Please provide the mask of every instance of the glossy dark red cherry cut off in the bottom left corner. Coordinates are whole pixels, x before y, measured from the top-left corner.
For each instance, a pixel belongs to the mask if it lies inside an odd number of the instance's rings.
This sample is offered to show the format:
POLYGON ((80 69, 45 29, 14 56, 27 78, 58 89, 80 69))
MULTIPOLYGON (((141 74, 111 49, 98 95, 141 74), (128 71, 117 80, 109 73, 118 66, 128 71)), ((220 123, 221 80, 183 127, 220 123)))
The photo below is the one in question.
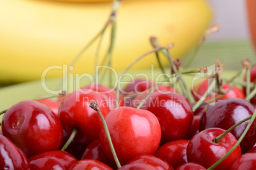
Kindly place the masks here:
POLYGON ((3 135, 0 135, 0 169, 30 169, 24 152, 3 135))

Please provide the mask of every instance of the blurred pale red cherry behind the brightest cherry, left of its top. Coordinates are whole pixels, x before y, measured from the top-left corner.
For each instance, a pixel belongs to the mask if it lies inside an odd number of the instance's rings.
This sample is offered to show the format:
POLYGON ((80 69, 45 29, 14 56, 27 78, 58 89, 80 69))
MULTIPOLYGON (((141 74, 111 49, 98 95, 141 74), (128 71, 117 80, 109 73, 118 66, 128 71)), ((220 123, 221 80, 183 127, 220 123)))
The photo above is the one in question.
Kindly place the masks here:
MULTIPOLYGON (((115 108, 117 96, 115 89, 111 89, 108 86, 104 86, 102 84, 88 84, 87 86, 83 86, 82 89, 93 89, 97 93, 100 93, 108 102, 108 107, 110 107, 110 110, 115 108)), ((121 95, 119 96, 118 105, 119 107, 124 106, 124 98, 122 98, 121 95)))

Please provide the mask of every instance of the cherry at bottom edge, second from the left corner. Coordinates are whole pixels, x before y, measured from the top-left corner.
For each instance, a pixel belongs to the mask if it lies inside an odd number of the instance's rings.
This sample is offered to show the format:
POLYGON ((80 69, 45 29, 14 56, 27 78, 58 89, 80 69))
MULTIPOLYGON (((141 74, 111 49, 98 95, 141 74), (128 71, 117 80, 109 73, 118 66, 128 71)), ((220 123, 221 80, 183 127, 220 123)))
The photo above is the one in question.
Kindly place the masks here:
POLYGON ((68 152, 53 150, 29 158, 31 169, 69 169, 78 160, 68 152))

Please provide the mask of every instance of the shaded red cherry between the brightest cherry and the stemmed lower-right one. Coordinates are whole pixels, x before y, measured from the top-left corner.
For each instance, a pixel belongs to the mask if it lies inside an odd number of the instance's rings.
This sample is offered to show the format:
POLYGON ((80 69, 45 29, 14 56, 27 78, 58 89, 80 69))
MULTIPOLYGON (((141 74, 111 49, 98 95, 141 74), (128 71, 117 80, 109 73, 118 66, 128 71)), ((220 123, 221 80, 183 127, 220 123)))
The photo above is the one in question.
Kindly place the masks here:
POLYGON ((171 167, 176 169, 187 162, 187 145, 188 140, 169 141, 159 147, 155 156, 166 160, 171 167))

